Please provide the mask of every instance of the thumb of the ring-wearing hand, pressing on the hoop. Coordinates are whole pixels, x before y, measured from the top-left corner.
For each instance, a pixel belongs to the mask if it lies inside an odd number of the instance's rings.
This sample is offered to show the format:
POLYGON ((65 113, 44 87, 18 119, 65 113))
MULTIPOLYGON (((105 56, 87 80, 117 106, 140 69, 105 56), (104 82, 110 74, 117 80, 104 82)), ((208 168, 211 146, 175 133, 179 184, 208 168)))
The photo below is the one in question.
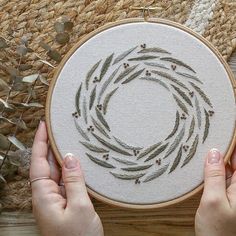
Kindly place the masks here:
POLYGON ((71 153, 67 153, 63 161, 62 179, 65 184, 68 207, 78 208, 81 205, 91 204, 79 160, 71 153))

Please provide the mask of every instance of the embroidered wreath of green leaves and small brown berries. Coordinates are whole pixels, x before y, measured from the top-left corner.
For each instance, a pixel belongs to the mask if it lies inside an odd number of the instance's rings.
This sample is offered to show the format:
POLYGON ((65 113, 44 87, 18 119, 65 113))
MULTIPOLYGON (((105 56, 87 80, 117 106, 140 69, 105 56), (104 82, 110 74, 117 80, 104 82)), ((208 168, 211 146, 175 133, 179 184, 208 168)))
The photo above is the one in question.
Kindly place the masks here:
POLYGON ((203 82, 196 74, 170 52, 147 47, 145 43, 96 62, 78 88, 76 111, 72 113, 80 143, 87 149, 86 156, 110 169, 113 177, 134 180, 135 184, 152 181, 187 165, 199 143, 207 139, 210 118, 214 115, 203 82), (134 147, 113 136, 106 121, 112 96, 119 87, 136 79, 162 86, 176 103, 172 131, 164 140, 148 147, 134 147))

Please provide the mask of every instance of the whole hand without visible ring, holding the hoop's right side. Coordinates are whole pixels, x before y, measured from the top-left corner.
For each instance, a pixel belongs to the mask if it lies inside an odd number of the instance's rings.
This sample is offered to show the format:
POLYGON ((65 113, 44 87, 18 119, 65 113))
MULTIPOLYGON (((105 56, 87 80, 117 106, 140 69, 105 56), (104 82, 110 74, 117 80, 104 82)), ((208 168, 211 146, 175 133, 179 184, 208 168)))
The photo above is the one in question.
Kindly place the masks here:
POLYGON ((195 216, 196 236, 236 235, 236 148, 231 166, 212 149, 205 162, 205 184, 195 216))

